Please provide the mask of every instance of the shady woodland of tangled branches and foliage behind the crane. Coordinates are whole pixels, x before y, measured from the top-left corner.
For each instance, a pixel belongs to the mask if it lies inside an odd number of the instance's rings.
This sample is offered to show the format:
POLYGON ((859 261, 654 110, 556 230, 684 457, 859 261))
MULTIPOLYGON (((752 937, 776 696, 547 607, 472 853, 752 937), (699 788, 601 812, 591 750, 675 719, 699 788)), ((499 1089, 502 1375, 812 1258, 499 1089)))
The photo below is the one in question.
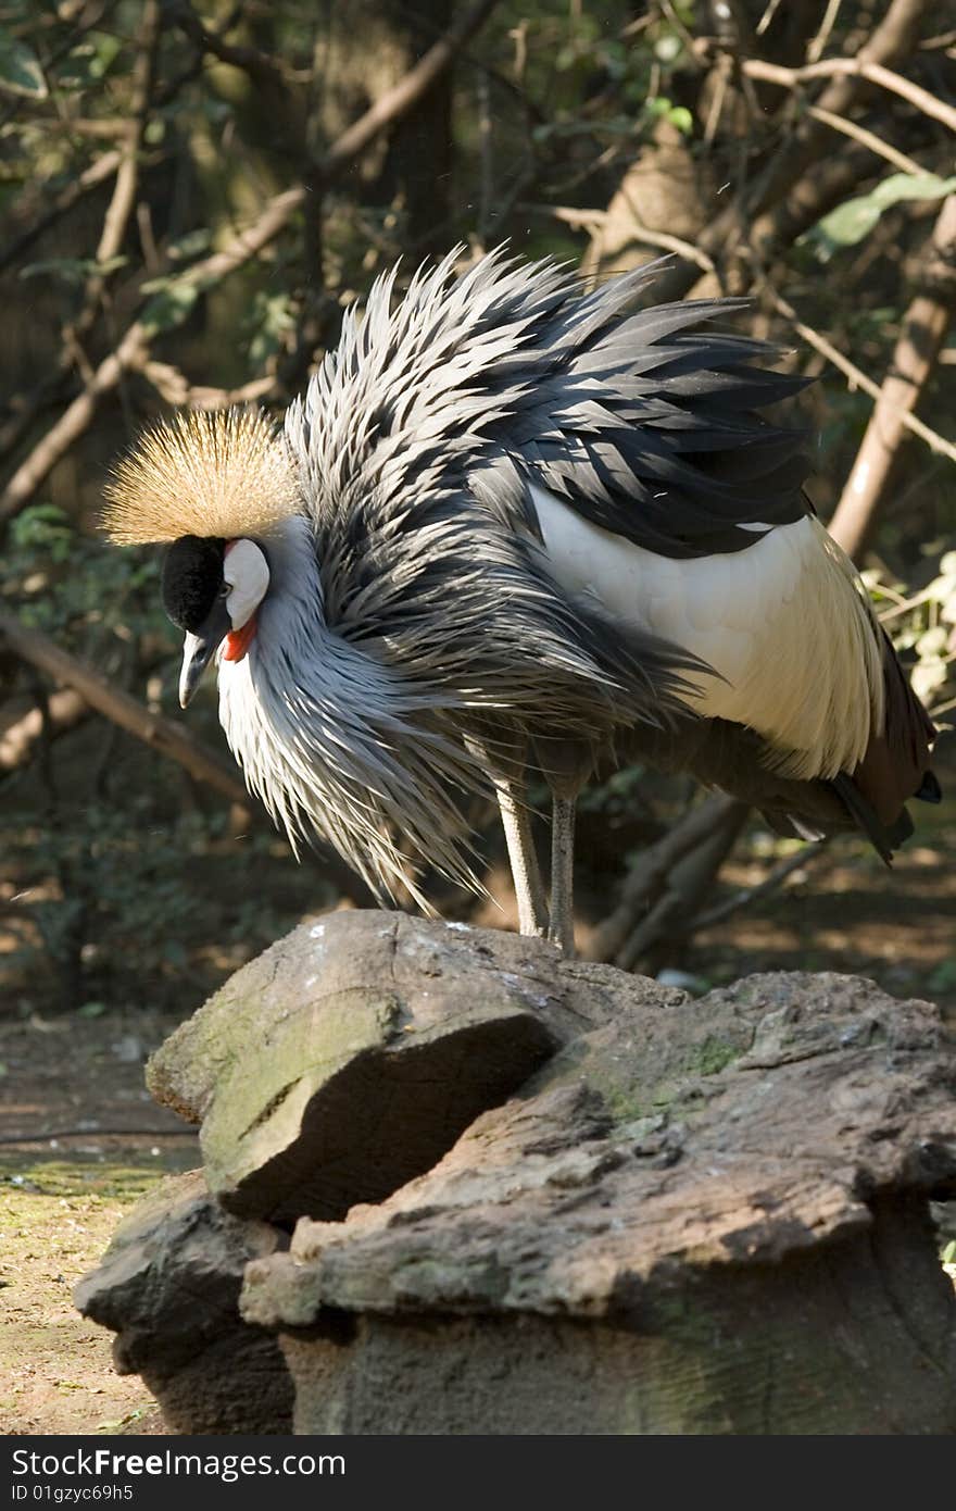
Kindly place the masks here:
MULTIPOLYGON (((281 416, 346 307, 461 243, 654 296, 748 295, 816 382, 810 491, 921 697, 956 710, 956 8, 924 0, 0 0, 0 997, 184 1015, 304 917, 365 905, 177 710, 159 553, 98 532, 174 406, 281 416)), ((956 792, 951 736, 938 769, 956 792)), ((544 795, 542 795, 544 796, 544 795)), ((578 937, 692 990, 862 970, 956 1002, 956 799, 888 873, 625 768, 589 793, 578 937), (677 973, 677 976, 675 976, 677 973)), ((513 926, 495 814, 476 808, 513 926)))

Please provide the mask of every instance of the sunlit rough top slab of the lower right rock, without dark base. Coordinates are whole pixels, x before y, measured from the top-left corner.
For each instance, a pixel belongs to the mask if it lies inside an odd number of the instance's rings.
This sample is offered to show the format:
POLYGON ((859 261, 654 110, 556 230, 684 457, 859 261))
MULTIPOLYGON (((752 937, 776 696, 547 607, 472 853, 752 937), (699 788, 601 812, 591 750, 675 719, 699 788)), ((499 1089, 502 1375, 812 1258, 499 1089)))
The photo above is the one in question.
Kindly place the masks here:
POLYGON ((296 1228, 248 1274, 257 1322, 317 1306, 604 1316, 690 1268, 778 1263, 956 1183, 956 1055, 936 1008, 847 976, 749 976, 627 1002, 426 1176, 296 1228), (607 1213, 613 1213, 612 1218, 607 1213), (287 1275, 291 1290, 257 1277, 287 1275))

